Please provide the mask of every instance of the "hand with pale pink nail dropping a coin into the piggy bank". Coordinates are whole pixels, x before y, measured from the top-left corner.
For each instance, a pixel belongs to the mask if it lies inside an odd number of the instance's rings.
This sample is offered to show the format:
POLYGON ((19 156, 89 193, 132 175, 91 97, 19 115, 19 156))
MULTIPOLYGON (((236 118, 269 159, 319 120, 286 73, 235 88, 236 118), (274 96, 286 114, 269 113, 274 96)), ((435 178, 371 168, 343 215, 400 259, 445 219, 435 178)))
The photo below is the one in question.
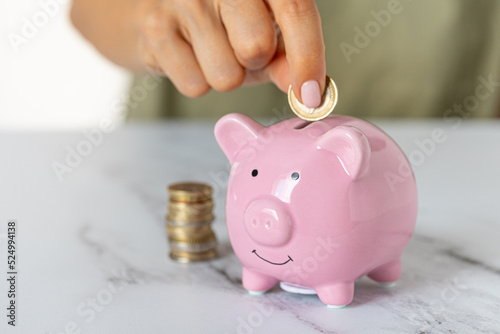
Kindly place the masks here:
POLYGON ((272 81, 316 107, 325 89, 314 0, 154 0, 139 44, 144 64, 190 97, 272 81))

